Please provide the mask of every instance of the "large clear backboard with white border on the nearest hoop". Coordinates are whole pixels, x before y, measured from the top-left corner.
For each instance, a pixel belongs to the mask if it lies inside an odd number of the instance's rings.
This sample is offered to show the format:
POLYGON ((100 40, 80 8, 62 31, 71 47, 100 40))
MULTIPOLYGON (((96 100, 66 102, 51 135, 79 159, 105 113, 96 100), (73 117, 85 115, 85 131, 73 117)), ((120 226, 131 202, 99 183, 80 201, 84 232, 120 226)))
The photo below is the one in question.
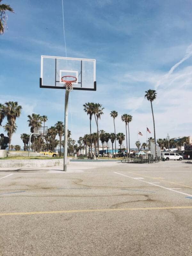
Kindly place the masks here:
POLYGON ((61 78, 75 76, 73 90, 96 91, 95 60, 41 56, 41 88, 65 89, 61 78))

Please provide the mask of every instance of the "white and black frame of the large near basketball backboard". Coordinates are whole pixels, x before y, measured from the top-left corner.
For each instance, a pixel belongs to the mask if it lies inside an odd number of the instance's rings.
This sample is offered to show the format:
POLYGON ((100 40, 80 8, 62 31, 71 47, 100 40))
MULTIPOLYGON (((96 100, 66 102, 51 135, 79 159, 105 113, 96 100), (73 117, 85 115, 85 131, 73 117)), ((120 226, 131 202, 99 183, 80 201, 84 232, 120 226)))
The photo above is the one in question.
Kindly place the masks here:
MULTIPOLYGON (((77 82, 75 84, 81 84, 81 87, 73 87, 73 90, 83 90, 83 91, 96 91, 97 90, 97 83, 96 83, 96 60, 94 59, 80 59, 80 58, 66 58, 66 57, 57 57, 57 56, 46 56, 46 55, 42 55, 41 56, 41 77, 39 79, 39 85, 40 88, 50 88, 50 89, 66 89, 65 85, 63 84, 63 86, 57 86, 56 83, 62 83, 61 81, 57 81, 56 80, 56 67, 57 67, 57 59, 63 59, 63 60, 77 60, 77 61, 92 61, 93 62, 93 88, 87 88, 87 87, 82 87, 82 83, 78 82, 78 77, 77 77, 77 82), (55 85, 44 85, 43 84, 43 60, 44 58, 52 58, 55 59, 55 85)), ((81 64, 81 68, 82 68, 82 64, 81 64)), ((68 71, 69 75, 72 71, 70 70, 60 70, 60 71, 68 71)), ((59 72, 60 72, 59 71, 59 72)), ((74 71, 77 72, 77 71, 74 71)), ((82 69, 81 69, 82 72, 82 69)), ((60 72, 60 76, 61 76, 61 72, 60 72)))

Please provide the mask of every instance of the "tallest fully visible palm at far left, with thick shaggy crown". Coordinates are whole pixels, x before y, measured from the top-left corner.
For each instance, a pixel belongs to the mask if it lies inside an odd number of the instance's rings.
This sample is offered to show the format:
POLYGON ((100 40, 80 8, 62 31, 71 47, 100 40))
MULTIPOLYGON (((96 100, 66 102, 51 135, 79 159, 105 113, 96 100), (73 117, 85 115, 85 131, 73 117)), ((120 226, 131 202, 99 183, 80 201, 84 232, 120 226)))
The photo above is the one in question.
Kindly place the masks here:
POLYGON ((17 101, 8 101, 4 104, 4 113, 7 116, 8 123, 6 125, 10 125, 9 129, 9 150, 10 150, 10 144, 12 139, 12 134, 14 132, 14 128, 17 127, 15 124, 16 118, 20 116, 21 114, 21 106, 18 106, 17 101))

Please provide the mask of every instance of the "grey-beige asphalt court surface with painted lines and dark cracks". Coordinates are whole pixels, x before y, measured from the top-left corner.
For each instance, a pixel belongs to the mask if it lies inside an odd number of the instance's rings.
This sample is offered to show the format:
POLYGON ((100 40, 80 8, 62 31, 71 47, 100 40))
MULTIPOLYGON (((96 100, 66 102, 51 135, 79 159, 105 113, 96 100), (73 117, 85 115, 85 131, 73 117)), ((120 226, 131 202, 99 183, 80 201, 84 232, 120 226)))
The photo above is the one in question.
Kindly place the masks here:
POLYGON ((192 164, 0 171, 0 255, 192 255, 192 164))

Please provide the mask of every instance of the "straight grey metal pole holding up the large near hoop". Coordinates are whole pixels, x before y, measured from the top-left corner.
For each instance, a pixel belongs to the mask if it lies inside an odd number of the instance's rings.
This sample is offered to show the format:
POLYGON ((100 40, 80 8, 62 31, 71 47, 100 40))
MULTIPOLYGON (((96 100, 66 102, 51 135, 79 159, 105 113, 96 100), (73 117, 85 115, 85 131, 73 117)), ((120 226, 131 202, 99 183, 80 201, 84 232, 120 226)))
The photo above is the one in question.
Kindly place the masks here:
POLYGON ((64 133, 64 159, 63 159, 63 171, 67 171, 67 142, 68 142, 68 99, 69 91, 65 90, 65 133, 64 133))

